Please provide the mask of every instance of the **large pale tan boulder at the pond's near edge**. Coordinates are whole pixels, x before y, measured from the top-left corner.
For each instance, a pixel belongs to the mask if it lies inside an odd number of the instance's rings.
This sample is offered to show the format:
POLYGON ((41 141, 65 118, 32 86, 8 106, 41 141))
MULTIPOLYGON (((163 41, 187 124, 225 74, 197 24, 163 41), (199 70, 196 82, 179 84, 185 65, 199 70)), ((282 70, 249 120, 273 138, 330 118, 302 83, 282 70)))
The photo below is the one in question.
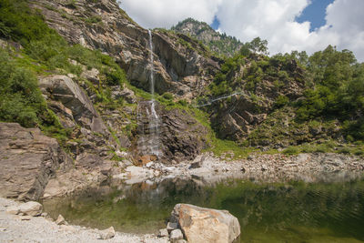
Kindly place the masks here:
POLYGON ((189 243, 231 243, 240 236, 238 218, 227 210, 177 204, 171 222, 178 224, 189 243))

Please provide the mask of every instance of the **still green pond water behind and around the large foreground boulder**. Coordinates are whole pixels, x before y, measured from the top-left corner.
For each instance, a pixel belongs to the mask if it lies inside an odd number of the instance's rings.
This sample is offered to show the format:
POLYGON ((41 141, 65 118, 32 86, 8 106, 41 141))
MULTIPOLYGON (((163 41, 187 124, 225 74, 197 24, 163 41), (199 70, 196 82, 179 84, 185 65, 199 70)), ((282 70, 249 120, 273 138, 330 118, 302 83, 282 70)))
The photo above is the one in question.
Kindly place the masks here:
POLYGON ((207 187, 175 178, 100 187, 44 205, 52 217, 62 214, 73 224, 156 233, 177 203, 227 209, 240 222, 241 242, 364 242, 364 179, 314 184, 230 180, 207 187))

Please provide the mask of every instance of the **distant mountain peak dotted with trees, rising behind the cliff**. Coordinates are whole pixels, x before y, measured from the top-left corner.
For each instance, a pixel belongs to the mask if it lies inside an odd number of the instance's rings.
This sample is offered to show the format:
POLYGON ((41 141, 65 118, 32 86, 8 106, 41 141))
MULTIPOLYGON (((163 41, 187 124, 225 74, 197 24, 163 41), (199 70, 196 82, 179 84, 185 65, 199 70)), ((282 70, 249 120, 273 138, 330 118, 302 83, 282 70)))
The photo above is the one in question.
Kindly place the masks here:
POLYGON ((220 34, 207 23, 193 18, 187 18, 171 29, 197 38, 218 56, 234 56, 243 45, 236 37, 227 36, 225 33, 220 34))

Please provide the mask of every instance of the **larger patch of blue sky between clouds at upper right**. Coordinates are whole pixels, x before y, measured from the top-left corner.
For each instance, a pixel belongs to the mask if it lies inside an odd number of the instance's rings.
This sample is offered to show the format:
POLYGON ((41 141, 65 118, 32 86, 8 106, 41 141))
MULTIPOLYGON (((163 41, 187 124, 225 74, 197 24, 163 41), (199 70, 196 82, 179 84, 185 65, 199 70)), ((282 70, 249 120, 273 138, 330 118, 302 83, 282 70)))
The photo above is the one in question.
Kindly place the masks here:
POLYGON ((314 31, 326 24, 326 8, 329 4, 332 4, 334 0, 311 0, 311 4, 303 10, 302 15, 296 18, 298 23, 305 21, 311 22, 310 31, 314 31))

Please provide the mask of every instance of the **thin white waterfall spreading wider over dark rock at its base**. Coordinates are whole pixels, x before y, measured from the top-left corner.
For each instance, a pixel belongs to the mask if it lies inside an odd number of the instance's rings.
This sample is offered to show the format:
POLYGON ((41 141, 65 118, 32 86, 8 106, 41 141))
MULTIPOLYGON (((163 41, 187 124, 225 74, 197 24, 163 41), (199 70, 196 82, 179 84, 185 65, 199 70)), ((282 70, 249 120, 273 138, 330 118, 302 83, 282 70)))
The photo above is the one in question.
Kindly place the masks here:
POLYGON ((157 115, 157 102, 154 98, 155 80, 154 80, 154 55, 153 55, 153 39, 152 32, 149 30, 149 83, 150 101, 140 102, 138 108, 138 126, 139 138, 137 142, 139 156, 162 156, 160 142, 160 118, 157 115))

